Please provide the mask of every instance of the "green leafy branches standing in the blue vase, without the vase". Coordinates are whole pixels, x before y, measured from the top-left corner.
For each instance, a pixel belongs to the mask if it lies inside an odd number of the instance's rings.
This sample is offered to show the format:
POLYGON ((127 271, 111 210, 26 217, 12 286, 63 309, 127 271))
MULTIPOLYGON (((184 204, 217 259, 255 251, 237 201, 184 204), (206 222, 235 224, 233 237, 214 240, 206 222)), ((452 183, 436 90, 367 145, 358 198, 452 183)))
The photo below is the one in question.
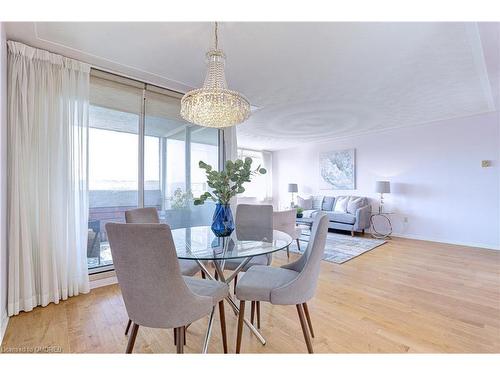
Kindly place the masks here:
POLYGON ((194 200, 196 206, 205 203, 207 199, 221 204, 229 204, 232 197, 245 191, 243 184, 250 182, 252 176, 267 173, 266 169, 261 168, 260 165, 252 170, 252 159, 248 157, 245 160, 237 159, 234 162, 228 160, 224 170, 220 172, 203 161, 200 161, 198 165, 205 170, 208 187, 213 190, 196 198, 194 200))

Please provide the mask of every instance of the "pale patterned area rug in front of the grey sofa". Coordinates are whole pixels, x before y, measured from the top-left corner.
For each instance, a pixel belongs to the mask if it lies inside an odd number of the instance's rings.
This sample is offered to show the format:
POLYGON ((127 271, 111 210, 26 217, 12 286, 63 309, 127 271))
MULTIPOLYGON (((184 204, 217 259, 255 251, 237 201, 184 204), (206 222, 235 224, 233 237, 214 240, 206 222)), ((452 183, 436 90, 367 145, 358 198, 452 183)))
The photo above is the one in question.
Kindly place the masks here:
MULTIPOLYGON (((300 248, 302 251, 305 250, 307 242, 309 242, 309 233, 308 231, 304 232, 305 233, 300 236, 300 248)), ((384 243, 386 243, 384 240, 366 237, 351 237, 350 235, 328 232, 323 260, 342 264, 384 243)), ((294 246, 290 246, 290 251, 295 253, 302 252, 298 250, 297 244, 295 243, 294 246)))

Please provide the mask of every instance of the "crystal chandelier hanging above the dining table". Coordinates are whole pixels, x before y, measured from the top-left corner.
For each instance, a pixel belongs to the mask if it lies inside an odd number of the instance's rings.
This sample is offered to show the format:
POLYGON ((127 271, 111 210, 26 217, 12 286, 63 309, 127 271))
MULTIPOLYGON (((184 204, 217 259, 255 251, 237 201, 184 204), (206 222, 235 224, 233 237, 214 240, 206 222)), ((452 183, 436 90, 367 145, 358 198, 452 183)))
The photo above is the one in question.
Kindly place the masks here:
POLYGON ((250 116, 250 103, 239 92, 228 90, 224 64, 226 57, 219 49, 218 25, 215 23, 215 46, 207 52, 208 71, 203 88, 187 92, 181 99, 181 116, 185 120, 209 128, 237 125, 250 116))

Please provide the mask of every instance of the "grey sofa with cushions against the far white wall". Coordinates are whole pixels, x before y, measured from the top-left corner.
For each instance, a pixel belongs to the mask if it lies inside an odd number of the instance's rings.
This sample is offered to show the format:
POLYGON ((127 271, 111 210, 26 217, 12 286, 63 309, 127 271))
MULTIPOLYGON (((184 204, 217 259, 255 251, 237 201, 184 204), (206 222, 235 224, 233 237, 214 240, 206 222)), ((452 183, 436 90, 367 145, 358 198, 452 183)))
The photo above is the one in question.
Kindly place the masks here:
POLYGON ((304 210, 304 217, 313 219, 318 212, 328 216, 329 228, 354 232, 365 232, 370 227, 371 206, 366 197, 349 196, 349 202, 356 202, 347 208, 347 212, 335 212, 335 201, 346 196, 314 196, 312 209, 304 210), (359 199, 359 201, 358 201, 359 199))

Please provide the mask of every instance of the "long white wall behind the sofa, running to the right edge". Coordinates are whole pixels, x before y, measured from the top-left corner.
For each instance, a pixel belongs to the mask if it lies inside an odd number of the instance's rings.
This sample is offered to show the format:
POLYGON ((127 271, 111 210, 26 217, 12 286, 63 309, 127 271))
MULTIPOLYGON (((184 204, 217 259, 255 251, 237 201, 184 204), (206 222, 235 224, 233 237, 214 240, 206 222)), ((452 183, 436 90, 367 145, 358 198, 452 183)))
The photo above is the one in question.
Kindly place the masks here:
POLYGON ((296 182, 299 195, 364 195, 376 207, 374 183, 387 179, 395 233, 499 249, 499 127, 494 112, 276 151, 274 203, 284 207, 287 184, 296 182), (357 189, 320 191, 319 153, 347 148, 356 149, 357 189), (492 167, 481 168, 481 160, 492 167))

